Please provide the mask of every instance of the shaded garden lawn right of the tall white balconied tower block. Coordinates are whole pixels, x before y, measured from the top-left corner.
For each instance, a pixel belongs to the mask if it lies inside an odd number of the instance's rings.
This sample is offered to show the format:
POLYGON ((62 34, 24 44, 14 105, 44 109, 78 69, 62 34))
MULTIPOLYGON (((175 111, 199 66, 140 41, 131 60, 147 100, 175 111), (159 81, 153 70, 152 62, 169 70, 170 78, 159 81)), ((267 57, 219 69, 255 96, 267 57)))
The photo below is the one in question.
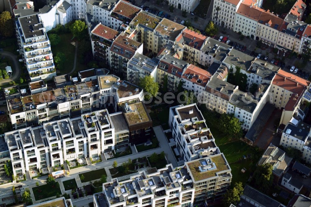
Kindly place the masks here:
MULTIPOLYGON (((64 70, 60 71, 61 74, 68 74, 72 68, 75 60, 75 46, 71 44, 72 34, 61 34, 60 43, 56 46, 51 46, 53 56, 55 57, 58 52, 64 53, 66 56, 66 62, 64 63, 64 70)), ((78 62, 78 60, 77 60, 78 62)))

